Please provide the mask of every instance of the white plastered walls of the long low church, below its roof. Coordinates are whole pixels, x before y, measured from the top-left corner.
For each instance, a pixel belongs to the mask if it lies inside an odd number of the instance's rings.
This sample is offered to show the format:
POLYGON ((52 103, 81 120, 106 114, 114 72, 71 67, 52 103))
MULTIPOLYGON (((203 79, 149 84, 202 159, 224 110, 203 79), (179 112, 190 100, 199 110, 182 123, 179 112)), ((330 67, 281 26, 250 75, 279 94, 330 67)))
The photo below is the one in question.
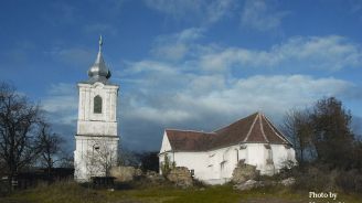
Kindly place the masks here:
POLYGON ((243 143, 201 152, 172 151, 164 133, 159 160, 162 165, 164 156, 168 156, 177 167, 193 170, 195 179, 207 184, 223 184, 231 180, 237 162, 243 159, 245 163, 256 165, 260 174, 267 175, 279 172, 287 160, 296 162, 292 148, 284 145, 270 147, 269 151, 265 143, 243 143), (274 164, 267 164, 270 152, 274 164))

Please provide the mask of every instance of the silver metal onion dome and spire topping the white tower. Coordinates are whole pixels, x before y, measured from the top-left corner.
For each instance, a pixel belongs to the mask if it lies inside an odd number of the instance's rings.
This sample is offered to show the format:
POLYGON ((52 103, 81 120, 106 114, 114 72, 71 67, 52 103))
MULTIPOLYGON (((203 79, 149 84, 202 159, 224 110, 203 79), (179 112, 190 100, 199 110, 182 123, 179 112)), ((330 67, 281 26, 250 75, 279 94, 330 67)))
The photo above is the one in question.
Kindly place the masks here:
POLYGON ((110 77, 110 71, 107 68, 106 63, 102 55, 102 46, 103 46, 103 40, 102 40, 102 35, 100 35, 99 36, 99 51, 97 54, 97 58, 88 71, 88 76, 89 76, 88 82, 91 82, 91 83, 100 82, 100 83, 106 84, 108 78, 110 77))

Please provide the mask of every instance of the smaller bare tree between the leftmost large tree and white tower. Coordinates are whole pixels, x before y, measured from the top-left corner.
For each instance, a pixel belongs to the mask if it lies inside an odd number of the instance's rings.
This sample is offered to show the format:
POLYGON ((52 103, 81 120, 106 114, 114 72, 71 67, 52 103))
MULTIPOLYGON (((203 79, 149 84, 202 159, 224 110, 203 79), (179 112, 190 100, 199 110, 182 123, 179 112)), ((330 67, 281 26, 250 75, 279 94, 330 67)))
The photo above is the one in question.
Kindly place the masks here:
POLYGON ((64 140, 57 133, 51 131, 49 124, 41 121, 36 142, 40 148, 41 163, 45 165, 50 178, 54 164, 63 159, 61 145, 64 140))

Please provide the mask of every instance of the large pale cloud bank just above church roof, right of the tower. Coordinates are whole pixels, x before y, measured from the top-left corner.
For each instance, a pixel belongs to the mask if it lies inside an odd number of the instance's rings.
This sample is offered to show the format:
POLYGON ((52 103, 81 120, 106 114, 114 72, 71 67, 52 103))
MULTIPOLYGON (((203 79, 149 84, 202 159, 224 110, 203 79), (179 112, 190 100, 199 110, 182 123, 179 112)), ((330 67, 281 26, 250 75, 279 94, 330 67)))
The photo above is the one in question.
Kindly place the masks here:
POLYGON ((225 118, 238 118, 257 110, 281 117, 289 108, 310 105, 323 96, 343 97, 356 88, 333 77, 296 74, 236 78, 223 74, 184 73, 166 63, 157 68, 159 63, 150 61, 130 64, 129 68, 137 70, 139 63, 152 68, 141 71, 143 74, 139 79, 142 83, 128 93, 131 98, 123 103, 124 118, 151 120, 164 127, 205 125, 210 116, 220 125, 225 118), (174 68, 179 71, 170 74, 174 68))

